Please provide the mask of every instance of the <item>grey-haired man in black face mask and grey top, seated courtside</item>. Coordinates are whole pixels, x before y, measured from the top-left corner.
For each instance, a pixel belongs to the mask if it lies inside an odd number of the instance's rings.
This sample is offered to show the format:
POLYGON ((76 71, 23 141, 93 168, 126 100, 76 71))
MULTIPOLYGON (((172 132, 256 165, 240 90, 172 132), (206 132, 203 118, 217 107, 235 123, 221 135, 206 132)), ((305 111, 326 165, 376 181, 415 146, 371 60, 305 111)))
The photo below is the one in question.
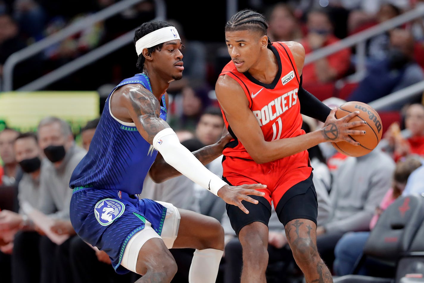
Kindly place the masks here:
POLYGON ((47 158, 40 174, 40 209, 54 221, 51 232, 71 237, 61 245, 56 245, 46 236, 41 237, 40 282, 52 282, 54 279, 60 283, 71 283, 74 281, 69 245, 75 231, 69 216, 72 196, 69 182, 86 150, 75 145, 70 125, 58 117, 49 116, 39 122, 38 139, 39 147, 47 158))

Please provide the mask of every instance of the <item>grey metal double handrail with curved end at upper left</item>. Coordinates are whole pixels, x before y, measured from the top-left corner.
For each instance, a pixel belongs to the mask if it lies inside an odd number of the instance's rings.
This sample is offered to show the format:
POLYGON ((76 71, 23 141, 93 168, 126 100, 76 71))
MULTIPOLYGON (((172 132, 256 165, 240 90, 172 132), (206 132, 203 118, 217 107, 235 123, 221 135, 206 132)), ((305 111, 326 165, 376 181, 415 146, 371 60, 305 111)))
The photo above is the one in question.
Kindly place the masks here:
MULTIPOLYGON (((52 34, 49 37, 46 37, 26 48, 21 49, 20 51, 17 51, 11 54, 6 59, 6 62, 3 67, 3 91, 13 90, 13 70, 18 63, 34 56, 35 54, 45 50, 47 47, 51 45, 56 44, 66 39, 67 37, 70 37, 71 35, 83 30, 84 28, 92 26, 95 23, 98 23, 100 21, 106 20, 107 18, 112 17, 115 14, 118 14, 124 11, 125 9, 131 6, 134 6, 137 3, 141 3, 143 1, 145 0, 122 0, 120 2, 117 2, 113 4, 112 6, 109 6, 107 8, 104 8, 101 11, 98 11, 95 14, 87 16, 84 19, 78 20, 77 22, 69 25, 67 28, 64 28, 61 31, 58 31, 57 33, 52 34)), ((156 11, 155 19, 165 20, 166 18, 165 2, 163 0, 155 0, 154 3, 155 3, 155 11, 156 11)), ((127 34, 124 34, 123 36, 115 40, 112 40, 111 42, 108 42, 85 55, 90 54, 91 56, 93 56, 93 58, 95 58, 94 60, 104 57, 110 52, 131 42, 131 40, 133 40, 133 37, 129 36, 131 35, 131 33, 134 35, 134 31, 130 31, 127 34), (122 40, 122 42, 120 42, 120 40, 122 40)), ((79 68, 82 68, 85 65, 88 65, 89 63, 94 61, 89 56, 85 56, 85 55, 82 56, 84 57, 85 63, 83 60, 81 60, 82 57, 78 57, 72 62, 69 62, 66 65, 63 65, 60 68, 56 69, 55 71, 53 71, 54 73, 50 72, 53 74, 50 74, 50 73, 46 74, 45 76, 42 76, 41 78, 36 79, 34 82, 31 82, 28 85, 23 86, 19 90, 26 90, 26 91, 39 90, 40 88, 46 85, 49 85, 50 83, 57 81, 58 79, 61 79, 64 76, 71 74, 72 72, 78 70, 79 68)))

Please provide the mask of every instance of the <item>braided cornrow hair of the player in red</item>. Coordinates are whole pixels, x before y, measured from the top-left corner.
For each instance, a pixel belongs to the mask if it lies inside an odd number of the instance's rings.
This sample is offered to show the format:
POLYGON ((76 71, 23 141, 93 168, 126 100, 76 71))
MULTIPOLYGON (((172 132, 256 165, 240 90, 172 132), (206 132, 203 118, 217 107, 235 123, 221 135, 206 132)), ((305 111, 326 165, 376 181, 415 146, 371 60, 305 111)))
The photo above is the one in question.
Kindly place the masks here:
MULTIPOLYGON (((225 25, 225 31, 259 31, 262 35, 267 34, 268 22, 263 14, 250 9, 244 9, 231 17, 225 25)), ((268 38, 268 45, 271 45, 268 38)))

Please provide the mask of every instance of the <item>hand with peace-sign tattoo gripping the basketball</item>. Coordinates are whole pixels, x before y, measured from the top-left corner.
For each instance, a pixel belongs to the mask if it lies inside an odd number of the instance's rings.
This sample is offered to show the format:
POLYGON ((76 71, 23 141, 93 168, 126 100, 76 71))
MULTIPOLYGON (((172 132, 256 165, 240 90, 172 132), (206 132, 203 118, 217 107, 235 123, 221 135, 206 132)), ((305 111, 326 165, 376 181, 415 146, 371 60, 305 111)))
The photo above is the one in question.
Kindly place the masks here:
POLYGON ((327 142, 349 142, 353 145, 359 145, 351 136, 363 136, 364 130, 354 130, 355 127, 363 126, 365 121, 349 122, 352 118, 359 115, 359 111, 354 111, 346 116, 337 119, 335 117, 337 108, 333 108, 328 115, 324 127, 321 129, 324 139, 327 142))

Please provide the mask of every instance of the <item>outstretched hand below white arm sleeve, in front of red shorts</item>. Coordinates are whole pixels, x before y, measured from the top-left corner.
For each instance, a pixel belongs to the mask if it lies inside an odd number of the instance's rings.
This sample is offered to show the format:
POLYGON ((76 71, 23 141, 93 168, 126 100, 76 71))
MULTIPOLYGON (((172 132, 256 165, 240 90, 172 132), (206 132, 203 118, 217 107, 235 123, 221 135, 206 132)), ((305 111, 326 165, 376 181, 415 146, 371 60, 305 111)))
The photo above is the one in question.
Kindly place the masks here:
POLYGON ((245 184, 237 187, 225 185, 218 190, 218 196, 222 198, 227 204, 232 204, 243 210, 244 213, 248 214, 249 211, 241 203, 242 201, 248 201, 252 204, 258 204, 254 198, 248 195, 264 196, 265 192, 259 192, 258 189, 265 189, 266 185, 262 184, 245 184))

